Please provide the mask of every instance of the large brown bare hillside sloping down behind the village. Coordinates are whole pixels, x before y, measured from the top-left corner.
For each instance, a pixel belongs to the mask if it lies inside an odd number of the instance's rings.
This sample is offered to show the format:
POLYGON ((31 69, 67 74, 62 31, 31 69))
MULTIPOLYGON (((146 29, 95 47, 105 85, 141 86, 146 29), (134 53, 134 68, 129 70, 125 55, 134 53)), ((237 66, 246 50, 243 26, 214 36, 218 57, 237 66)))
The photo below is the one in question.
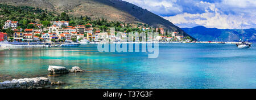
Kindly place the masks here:
MULTIPOLYGON (((109 21, 124 23, 144 23, 153 27, 160 27, 171 31, 183 30, 170 21, 153 14, 152 12, 122 0, 0 0, 0 3, 14 6, 32 6, 74 16, 89 16, 92 19, 104 18, 109 21)), ((192 39, 195 39, 192 37, 192 39)))

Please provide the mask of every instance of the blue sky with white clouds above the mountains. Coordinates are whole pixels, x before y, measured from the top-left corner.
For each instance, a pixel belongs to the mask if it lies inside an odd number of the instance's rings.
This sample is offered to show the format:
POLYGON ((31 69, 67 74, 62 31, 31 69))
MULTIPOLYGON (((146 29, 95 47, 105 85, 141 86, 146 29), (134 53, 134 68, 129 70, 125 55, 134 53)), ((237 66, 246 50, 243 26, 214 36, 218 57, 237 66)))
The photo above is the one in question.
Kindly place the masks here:
POLYGON ((256 28, 256 0, 123 0, 181 28, 256 28))

